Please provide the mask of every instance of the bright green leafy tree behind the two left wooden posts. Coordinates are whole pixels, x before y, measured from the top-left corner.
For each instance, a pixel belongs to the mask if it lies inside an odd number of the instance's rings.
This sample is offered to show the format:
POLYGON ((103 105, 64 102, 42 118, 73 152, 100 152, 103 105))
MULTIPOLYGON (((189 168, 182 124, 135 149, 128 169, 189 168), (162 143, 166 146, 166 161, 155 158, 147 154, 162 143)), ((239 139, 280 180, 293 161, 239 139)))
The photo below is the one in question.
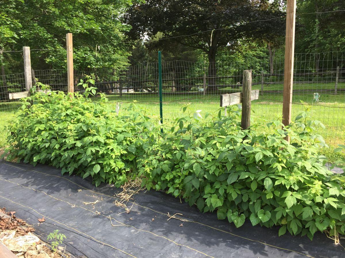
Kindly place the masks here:
MULTIPOLYGON (((75 69, 127 65, 129 26, 120 16, 131 0, 0 0, 0 48, 31 51, 36 69, 66 68, 66 33, 73 33, 75 69), (97 54, 96 54, 97 52, 97 54)), ((10 58, 8 53, 4 53, 10 58)))

